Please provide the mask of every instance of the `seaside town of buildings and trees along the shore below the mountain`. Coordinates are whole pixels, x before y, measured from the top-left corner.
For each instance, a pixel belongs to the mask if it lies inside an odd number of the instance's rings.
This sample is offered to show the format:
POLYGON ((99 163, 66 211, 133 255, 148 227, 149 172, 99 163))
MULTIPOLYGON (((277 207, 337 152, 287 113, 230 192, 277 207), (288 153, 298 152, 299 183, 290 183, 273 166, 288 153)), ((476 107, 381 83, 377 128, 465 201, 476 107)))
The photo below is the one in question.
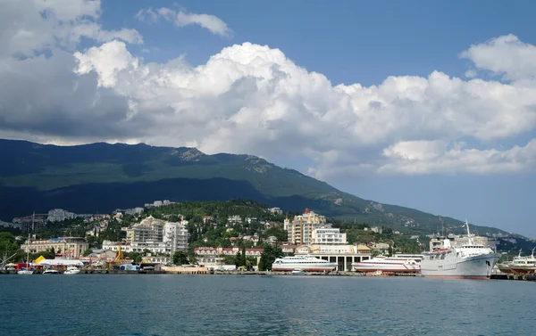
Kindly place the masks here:
POLYGON ((438 252, 447 250, 445 244, 453 244, 490 251, 493 265, 489 263, 485 277, 513 273, 506 267, 499 270, 498 266, 503 264, 495 265, 499 257, 495 257, 493 239, 469 232, 465 236, 449 234, 447 242, 437 234, 405 235, 382 226, 341 229, 334 227, 330 218, 309 209, 301 214, 284 214, 280 208, 264 208, 247 201, 208 203, 209 206, 194 203, 195 206, 188 206, 194 207, 196 216, 179 212, 190 211, 187 205, 165 200, 133 209, 116 209, 111 214, 51 209, 47 214, 16 217, 3 226, 20 230, 22 234, 16 238, 24 242, 12 256, 4 251, 0 266, 8 273, 32 274, 420 275, 421 266, 426 263, 426 250, 438 252), (229 208, 226 216, 217 211, 200 211, 222 204, 229 208), (232 209, 236 213, 229 212, 232 209), (247 216, 254 212, 255 217, 247 216), (57 225, 62 227, 62 233, 82 234, 43 235, 57 225), (401 247, 397 242, 409 245, 401 247))

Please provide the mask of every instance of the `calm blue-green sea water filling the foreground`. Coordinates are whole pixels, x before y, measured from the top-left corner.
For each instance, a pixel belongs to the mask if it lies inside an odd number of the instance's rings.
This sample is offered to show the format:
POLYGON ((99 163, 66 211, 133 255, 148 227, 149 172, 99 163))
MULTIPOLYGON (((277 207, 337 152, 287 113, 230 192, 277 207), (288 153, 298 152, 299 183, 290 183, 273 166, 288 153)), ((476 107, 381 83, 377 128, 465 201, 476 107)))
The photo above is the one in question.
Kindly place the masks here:
POLYGON ((0 275, 0 335, 527 335, 536 283, 0 275))

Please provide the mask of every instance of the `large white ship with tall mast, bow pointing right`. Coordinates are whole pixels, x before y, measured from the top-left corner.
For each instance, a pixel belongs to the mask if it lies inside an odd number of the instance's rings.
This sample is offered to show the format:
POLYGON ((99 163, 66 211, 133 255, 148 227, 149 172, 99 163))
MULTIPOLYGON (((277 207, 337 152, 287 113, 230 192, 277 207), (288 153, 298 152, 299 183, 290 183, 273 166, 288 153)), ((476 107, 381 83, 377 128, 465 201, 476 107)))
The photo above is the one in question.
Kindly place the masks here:
POLYGON ((473 242, 467 227, 468 242, 460 247, 452 246, 445 239, 438 250, 426 252, 421 261, 421 274, 425 277, 490 279, 493 266, 500 255, 488 246, 473 242))

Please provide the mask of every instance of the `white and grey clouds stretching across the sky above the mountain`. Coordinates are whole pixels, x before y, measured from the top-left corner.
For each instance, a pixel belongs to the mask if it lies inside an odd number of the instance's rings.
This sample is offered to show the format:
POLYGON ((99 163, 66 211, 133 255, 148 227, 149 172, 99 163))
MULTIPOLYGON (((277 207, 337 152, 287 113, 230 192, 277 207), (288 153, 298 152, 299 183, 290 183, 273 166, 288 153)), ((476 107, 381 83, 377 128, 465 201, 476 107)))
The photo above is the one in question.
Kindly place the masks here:
MULTIPOLYGON (((536 127, 536 47, 512 35, 460 53, 468 80, 433 71, 333 86, 267 45, 231 45, 197 67, 147 62, 129 50, 137 31, 96 23, 98 2, 25 4, 0 13, 0 137, 300 156, 324 179, 536 168, 536 139, 517 141, 536 127), (76 51, 80 37, 95 46, 76 51)), ((179 13, 155 15, 176 23, 179 13)))

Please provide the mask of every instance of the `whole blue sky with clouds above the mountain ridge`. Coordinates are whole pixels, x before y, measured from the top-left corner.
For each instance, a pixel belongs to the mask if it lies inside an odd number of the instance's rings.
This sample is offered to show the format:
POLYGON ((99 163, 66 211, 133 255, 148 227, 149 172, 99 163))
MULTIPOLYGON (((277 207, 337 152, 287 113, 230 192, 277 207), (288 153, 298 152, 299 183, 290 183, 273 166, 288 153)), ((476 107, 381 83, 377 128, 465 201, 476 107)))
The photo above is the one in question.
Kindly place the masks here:
POLYGON ((0 5, 0 138, 248 153, 536 238, 534 2, 0 5))

